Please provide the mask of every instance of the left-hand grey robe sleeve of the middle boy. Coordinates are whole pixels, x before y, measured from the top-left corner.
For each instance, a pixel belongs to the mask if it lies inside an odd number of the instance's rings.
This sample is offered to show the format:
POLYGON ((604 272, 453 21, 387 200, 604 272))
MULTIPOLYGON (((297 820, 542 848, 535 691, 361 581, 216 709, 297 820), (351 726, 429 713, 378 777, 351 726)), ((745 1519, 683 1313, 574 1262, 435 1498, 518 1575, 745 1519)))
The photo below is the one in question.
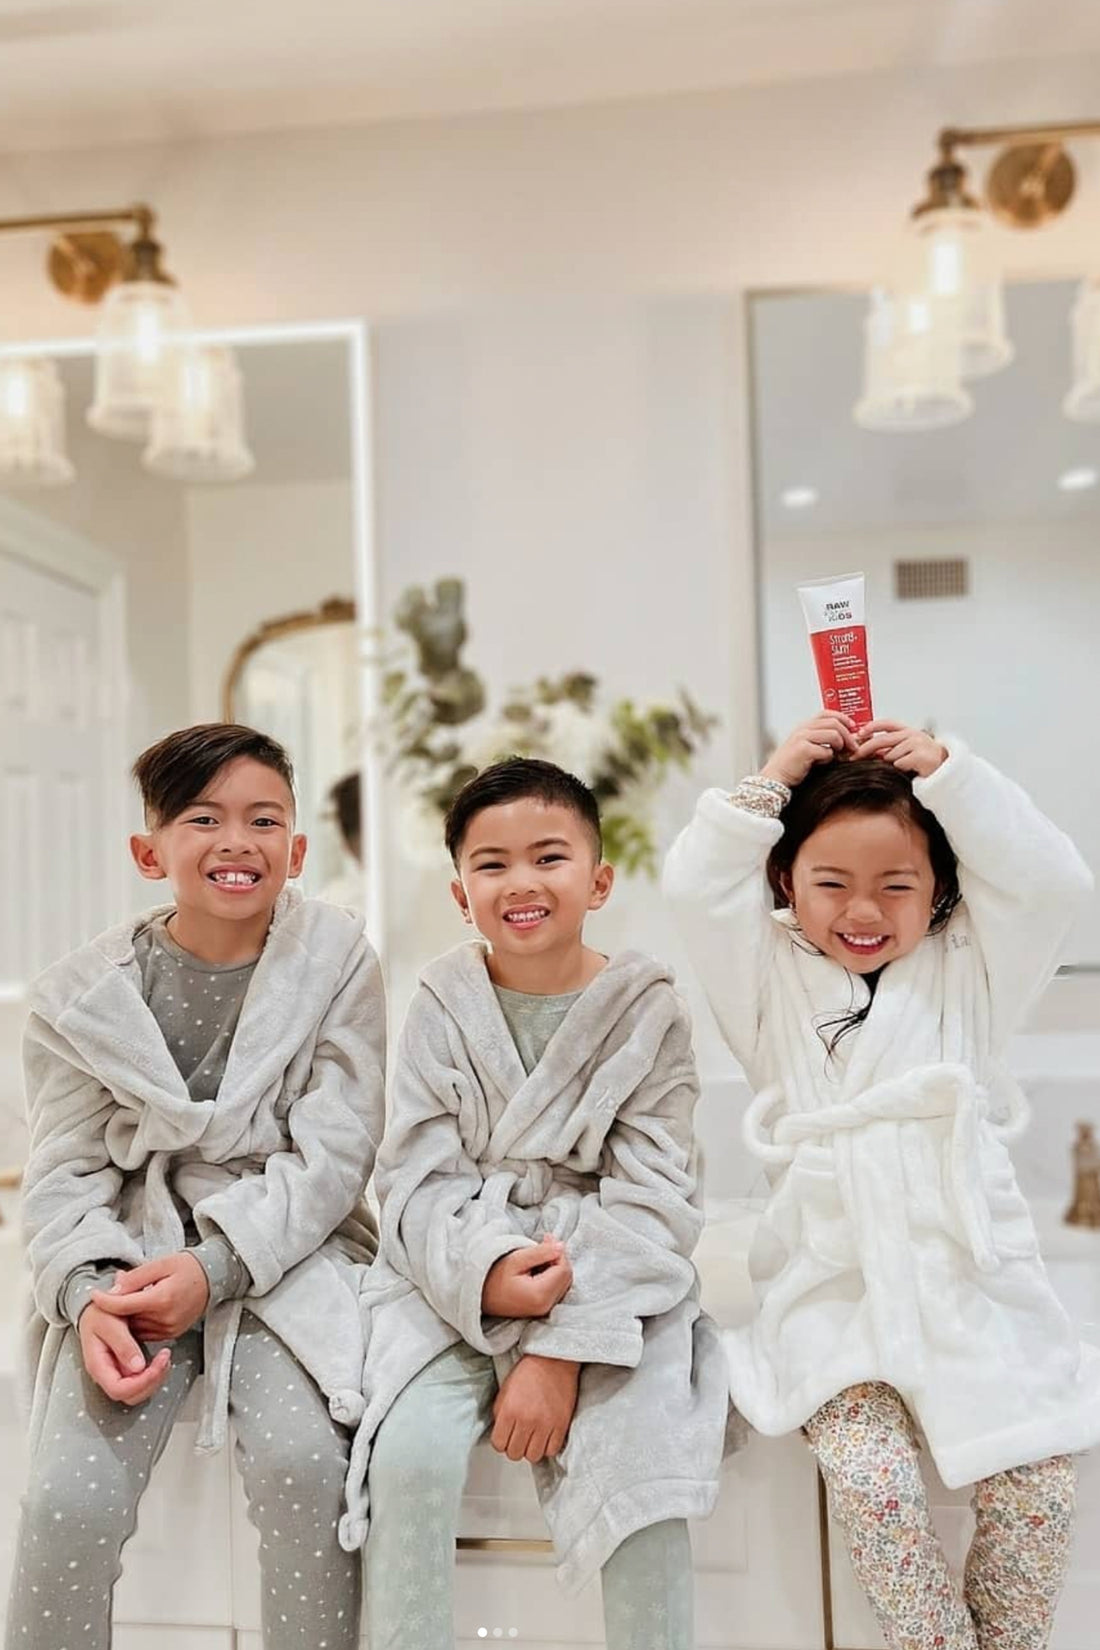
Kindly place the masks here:
POLYGON ((501 1256, 533 1239, 518 1231, 506 1208, 480 1200, 482 1172, 460 1125, 460 1110, 477 1101, 447 1048, 440 1016, 421 987, 401 1033, 374 1176, 381 1252, 468 1346, 495 1355, 515 1346, 523 1320, 482 1313, 485 1279, 501 1256))

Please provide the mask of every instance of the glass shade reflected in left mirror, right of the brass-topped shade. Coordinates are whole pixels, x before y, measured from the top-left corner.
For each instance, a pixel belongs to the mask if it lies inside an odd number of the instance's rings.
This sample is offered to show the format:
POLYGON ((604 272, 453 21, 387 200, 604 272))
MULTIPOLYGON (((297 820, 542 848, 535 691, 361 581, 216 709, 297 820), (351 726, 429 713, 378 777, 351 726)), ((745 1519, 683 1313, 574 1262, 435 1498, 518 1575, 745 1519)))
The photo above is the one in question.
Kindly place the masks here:
POLYGON ((180 482, 237 482, 256 467, 231 350, 181 345, 172 351, 142 464, 180 482))

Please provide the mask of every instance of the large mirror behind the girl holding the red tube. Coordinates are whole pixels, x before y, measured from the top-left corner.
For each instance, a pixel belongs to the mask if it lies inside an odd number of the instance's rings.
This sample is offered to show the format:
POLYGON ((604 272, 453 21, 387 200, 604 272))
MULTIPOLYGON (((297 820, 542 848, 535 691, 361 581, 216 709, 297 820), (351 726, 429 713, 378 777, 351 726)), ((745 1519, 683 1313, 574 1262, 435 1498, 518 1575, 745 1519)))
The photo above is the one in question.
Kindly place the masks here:
MULTIPOLYGON (((863 571, 876 711, 960 733, 1100 870, 1100 426, 1062 412, 1070 282, 1011 285, 1014 361, 947 429, 859 429, 866 295, 750 300, 765 746, 818 700, 797 586, 863 571)), ((1065 964, 1100 972, 1100 901, 1065 964)))

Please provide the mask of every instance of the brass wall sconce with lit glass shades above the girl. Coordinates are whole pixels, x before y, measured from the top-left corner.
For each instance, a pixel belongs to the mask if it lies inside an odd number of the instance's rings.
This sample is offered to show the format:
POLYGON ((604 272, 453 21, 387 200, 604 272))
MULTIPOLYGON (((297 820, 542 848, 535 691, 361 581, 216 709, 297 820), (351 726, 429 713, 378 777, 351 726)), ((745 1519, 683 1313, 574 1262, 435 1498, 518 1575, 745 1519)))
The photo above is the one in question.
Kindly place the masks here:
MULTIPOLYGON (((938 135, 938 160, 927 175, 927 191, 914 206, 914 236, 889 300, 904 314, 915 300, 928 305, 935 343, 925 343, 925 366, 905 356, 904 381, 891 360, 872 356, 871 335, 882 328, 881 295, 867 318, 864 394, 854 417, 866 429, 914 431, 957 422, 973 411, 965 380, 985 378, 1013 360, 1004 328, 1001 271, 991 244, 993 218, 1014 229, 1034 229, 1062 213, 1075 188, 1074 162, 1062 147, 1069 137, 1100 135, 1100 120, 1060 125, 947 127, 938 135), (968 145, 1006 145, 993 162, 985 206, 971 195, 958 150, 968 145), (877 315, 877 320, 876 320, 877 315), (928 406, 943 416, 930 419, 928 406), (953 416, 948 409, 953 408, 953 416)), ((1100 419, 1100 289, 1088 280, 1074 312, 1075 376, 1065 414, 1100 419)))

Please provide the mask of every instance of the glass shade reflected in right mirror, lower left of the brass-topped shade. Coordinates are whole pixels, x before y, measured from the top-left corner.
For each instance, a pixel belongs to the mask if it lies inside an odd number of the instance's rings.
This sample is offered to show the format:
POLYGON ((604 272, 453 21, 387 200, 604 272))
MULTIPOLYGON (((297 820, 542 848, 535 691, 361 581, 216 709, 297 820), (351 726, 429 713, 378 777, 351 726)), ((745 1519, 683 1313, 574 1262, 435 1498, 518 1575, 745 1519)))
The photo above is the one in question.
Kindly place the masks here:
POLYGON ((973 401, 961 384, 958 335, 942 300, 924 292, 872 292, 856 424, 884 431, 940 429, 971 412, 973 401))

